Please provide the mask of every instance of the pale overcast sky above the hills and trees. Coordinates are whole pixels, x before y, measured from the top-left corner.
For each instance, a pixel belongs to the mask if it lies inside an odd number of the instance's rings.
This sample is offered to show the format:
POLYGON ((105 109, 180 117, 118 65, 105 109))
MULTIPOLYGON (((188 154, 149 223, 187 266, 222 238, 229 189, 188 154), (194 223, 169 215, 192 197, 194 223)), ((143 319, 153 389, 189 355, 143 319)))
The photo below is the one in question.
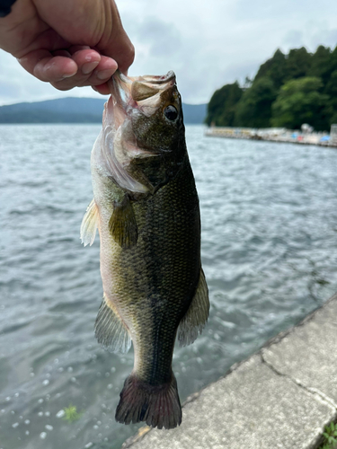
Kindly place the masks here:
MULTIPOLYGON (((187 103, 208 102, 219 87, 253 77, 277 48, 315 51, 337 44, 332 0, 117 0, 136 48, 129 75, 173 70, 187 103)), ((0 104, 65 96, 99 96, 92 89, 59 92, 27 74, 0 50, 0 104)))

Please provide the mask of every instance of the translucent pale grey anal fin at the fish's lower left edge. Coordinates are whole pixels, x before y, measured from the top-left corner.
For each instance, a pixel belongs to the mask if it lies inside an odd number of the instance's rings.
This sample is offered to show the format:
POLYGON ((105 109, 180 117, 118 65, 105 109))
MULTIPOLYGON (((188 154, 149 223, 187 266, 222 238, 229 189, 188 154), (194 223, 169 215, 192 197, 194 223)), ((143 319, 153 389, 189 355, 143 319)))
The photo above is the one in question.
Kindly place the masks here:
POLYGON ((105 295, 94 324, 94 334, 102 347, 111 352, 126 353, 131 347, 129 330, 105 295))

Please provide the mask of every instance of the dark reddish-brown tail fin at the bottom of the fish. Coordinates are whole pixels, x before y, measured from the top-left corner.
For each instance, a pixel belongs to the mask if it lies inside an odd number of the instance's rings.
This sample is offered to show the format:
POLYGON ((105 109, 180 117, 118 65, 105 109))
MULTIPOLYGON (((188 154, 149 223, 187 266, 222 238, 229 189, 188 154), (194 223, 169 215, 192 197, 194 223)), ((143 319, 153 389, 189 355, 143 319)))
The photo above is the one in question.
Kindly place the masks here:
POLYGON ((174 374, 169 383, 156 386, 140 381, 135 374, 130 374, 120 392, 115 418, 124 424, 146 421, 148 426, 158 428, 180 426, 182 406, 174 374))

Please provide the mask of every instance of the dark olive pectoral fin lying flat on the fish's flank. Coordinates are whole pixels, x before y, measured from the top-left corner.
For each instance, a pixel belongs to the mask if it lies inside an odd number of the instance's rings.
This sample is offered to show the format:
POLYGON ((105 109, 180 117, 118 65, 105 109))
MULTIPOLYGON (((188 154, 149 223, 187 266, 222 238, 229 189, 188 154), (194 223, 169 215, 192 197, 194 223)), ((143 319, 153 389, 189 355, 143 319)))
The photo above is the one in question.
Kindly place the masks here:
POLYGON ((126 195, 121 203, 115 202, 109 230, 113 240, 122 248, 129 248, 137 243, 137 222, 135 212, 126 195))

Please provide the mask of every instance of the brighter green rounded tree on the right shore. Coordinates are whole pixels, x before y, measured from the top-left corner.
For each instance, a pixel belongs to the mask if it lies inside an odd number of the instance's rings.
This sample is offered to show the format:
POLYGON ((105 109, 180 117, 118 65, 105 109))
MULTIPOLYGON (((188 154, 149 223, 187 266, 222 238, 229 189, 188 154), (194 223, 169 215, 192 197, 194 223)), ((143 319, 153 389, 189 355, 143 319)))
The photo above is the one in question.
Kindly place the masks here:
POLYGON ((308 123, 316 130, 328 129, 326 104, 329 97, 321 92, 322 88, 322 80, 314 76, 284 84, 272 105, 272 126, 297 129, 308 123))

